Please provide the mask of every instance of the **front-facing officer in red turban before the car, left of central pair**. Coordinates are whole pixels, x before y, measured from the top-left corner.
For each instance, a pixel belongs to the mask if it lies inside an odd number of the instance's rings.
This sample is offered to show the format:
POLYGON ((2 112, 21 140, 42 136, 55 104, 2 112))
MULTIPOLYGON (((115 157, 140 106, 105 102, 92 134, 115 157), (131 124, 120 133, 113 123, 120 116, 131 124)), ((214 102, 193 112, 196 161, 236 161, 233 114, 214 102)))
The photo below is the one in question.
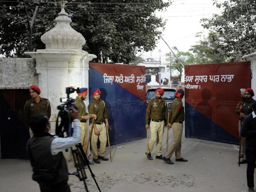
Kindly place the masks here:
MULTIPOLYGON (((165 100, 162 99, 164 90, 156 88, 156 98, 148 102, 146 110, 146 129, 150 127, 150 141, 147 149, 147 158, 153 160, 151 152, 156 143, 156 158, 162 159, 162 140, 164 135, 164 119, 168 122, 168 107, 165 100), (150 120, 151 119, 151 120, 150 120)), ((167 125, 170 127, 170 123, 167 125)))

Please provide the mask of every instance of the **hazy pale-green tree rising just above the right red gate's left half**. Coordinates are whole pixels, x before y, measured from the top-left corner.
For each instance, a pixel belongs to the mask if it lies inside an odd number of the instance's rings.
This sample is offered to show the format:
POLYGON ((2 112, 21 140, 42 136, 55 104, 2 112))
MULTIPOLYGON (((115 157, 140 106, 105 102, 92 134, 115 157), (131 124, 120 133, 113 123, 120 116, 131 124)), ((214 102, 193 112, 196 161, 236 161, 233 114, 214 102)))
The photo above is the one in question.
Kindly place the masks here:
POLYGON ((200 40, 196 45, 191 46, 189 52, 194 55, 194 64, 210 64, 210 63, 220 63, 225 62, 226 57, 216 52, 216 42, 212 39, 212 34, 210 32, 207 37, 202 36, 202 32, 196 34, 200 40))

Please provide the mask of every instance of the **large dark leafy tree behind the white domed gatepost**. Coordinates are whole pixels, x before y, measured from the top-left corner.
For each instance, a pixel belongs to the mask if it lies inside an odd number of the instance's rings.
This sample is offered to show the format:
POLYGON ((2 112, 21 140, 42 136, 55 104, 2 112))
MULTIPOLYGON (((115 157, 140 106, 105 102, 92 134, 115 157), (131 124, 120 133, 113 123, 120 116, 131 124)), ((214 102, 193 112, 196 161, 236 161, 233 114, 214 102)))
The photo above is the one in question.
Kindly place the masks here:
MULTIPOLYGON (((65 10, 73 14, 71 26, 84 36, 83 49, 96 54, 96 62, 106 62, 109 58, 111 62, 128 64, 137 52, 148 52, 156 47, 165 20, 154 12, 163 11, 170 4, 171 0, 70 0, 65 10)), ((34 0, 26 2, 30 16, 37 5, 39 13, 33 31, 33 50, 45 48, 40 36, 54 27, 54 19, 60 12, 56 1, 34 0)), ((24 4, 21 0, 0 2, 0 7, 0 54, 24 56, 24 51, 28 50, 24 4)))

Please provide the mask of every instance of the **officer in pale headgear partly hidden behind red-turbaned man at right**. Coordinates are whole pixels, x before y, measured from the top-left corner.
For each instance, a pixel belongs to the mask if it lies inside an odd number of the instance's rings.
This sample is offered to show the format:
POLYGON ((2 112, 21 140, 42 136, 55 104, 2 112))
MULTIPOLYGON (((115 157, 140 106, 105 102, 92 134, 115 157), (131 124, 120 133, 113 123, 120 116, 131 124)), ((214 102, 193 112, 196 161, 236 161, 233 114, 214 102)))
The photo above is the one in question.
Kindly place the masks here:
MULTIPOLYGON (((245 104, 245 97, 244 97, 244 92, 245 89, 240 89, 241 92, 241 100, 240 102, 236 105, 236 114, 238 114, 240 116, 240 113, 242 113, 242 109, 243 106, 245 104)), ((240 129, 241 129, 241 125, 242 125, 242 117, 239 117, 239 121, 238 121, 238 133, 240 135, 240 129)), ((245 149, 246 149, 246 138, 245 137, 241 137, 241 155, 240 158, 245 157, 246 158, 246 154, 245 154, 245 149)))

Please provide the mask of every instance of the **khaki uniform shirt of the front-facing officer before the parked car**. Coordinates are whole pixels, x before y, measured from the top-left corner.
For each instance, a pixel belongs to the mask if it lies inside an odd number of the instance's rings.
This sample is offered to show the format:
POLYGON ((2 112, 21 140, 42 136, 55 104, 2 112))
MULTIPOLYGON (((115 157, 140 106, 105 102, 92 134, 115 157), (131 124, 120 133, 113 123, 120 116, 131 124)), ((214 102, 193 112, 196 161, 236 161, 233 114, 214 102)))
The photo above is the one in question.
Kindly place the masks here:
POLYGON ((168 107, 166 100, 162 99, 160 102, 154 98, 148 102, 146 110, 146 125, 150 123, 150 119, 166 119, 168 122, 168 107))

